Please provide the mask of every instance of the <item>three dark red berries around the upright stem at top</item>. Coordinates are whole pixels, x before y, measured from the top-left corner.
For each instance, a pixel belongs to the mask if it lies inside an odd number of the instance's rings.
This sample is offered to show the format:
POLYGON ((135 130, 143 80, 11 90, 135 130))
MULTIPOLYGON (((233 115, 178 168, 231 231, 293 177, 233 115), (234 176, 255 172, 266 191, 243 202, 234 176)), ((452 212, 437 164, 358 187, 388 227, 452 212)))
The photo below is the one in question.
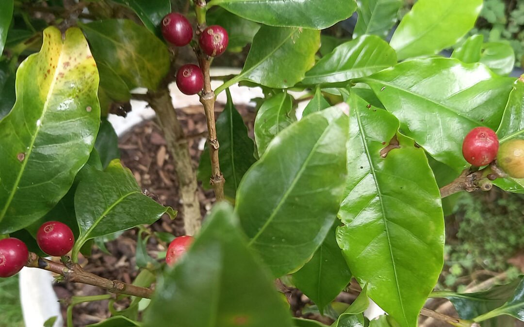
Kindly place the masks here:
MULTIPOLYGON (((193 39, 193 28, 187 18, 178 13, 171 13, 162 19, 162 35, 173 46, 187 46, 193 39)), ((227 31, 219 25, 205 28, 199 37, 200 50, 216 57, 227 48, 227 31)), ((177 71, 177 86, 183 94, 192 95, 202 91, 204 75, 199 66, 185 64, 177 71)))

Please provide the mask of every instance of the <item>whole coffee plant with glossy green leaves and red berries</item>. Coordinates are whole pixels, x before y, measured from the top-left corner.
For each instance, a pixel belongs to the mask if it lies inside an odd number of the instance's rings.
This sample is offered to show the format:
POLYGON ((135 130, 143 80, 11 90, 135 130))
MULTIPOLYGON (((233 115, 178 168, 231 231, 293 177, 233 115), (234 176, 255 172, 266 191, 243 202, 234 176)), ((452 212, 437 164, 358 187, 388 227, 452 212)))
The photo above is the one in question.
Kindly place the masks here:
POLYGON ((524 193, 524 78, 489 57, 496 44, 462 40, 482 0, 419 0, 397 25, 402 5, 2 0, 0 276, 25 265, 108 291, 71 299, 69 326, 73 305, 126 297, 127 309, 92 326, 324 326, 292 317, 282 294, 292 288, 337 327, 413 327, 421 315, 464 327, 524 321, 521 277, 481 292, 433 290, 445 198, 494 185, 524 193), (325 35, 354 12, 352 39, 325 35), (452 58, 439 55, 457 42, 452 58), (215 57, 246 46, 238 74, 211 75, 215 57), (212 78, 223 81, 214 90, 212 78), (205 112, 198 171, 172 83, 205 112), (228 89, 237 83, 264 92, 254 140, 228 89), (156 112, 188 236, 148 228, 177 212, 118 159, 107 115, 125 115, 130 99, 156 112), (216 198, 202 227, 198 180, 216 198), (133 283, 79 264, 94 244, 135 227, 143 264, 133 283), (150 238, 168 249, 168 264, 145 251, 150 238), (333 314, 352 278, 360 295, 333 314), (365 317, 368 298, 386 314, 365 317), (459 317, 423 308, 430 298, 451 301, 459 317))

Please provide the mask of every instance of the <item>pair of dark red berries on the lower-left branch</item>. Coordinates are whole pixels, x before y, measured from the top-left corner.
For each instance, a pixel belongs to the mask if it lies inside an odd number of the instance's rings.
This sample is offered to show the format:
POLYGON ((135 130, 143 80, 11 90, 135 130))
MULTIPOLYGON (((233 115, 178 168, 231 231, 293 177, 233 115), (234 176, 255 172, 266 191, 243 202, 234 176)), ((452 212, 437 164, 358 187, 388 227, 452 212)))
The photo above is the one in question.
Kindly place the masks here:
MULTIPOLYGON (((62 256, 73 249, 74 236, 68 225, 59 221, 43 223, 36 234, 40 249, 51 256, 62 256)), ((17 274, 27 262, 29 251, 15 238, 0 240, 0 277, 17 274)))

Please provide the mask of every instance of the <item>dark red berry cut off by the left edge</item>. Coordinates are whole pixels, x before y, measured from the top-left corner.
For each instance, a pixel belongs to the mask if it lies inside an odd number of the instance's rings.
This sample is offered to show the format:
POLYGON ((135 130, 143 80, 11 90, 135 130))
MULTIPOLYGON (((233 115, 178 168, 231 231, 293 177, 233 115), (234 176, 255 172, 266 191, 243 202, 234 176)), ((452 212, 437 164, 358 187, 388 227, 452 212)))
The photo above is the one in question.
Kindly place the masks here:
POLYGON ((0 277, 10 277, 20 271, 27 262, 29 251, 24 242, 8 238, 0 240, 0 277))

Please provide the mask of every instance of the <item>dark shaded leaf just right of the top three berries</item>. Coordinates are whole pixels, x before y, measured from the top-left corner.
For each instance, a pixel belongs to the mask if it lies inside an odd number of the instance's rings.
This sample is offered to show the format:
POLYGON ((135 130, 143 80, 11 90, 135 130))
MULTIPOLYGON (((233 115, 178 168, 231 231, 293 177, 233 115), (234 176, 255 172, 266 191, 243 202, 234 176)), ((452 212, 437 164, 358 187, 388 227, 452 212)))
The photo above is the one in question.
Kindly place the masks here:
POLYGON ((226 29, 229 36, 227 50, 241 50, 246 44, 253 42, 253 37, 260 29, 256 22, 234 15, 217 7, 206 15, 208 25, 220 25, 226 29))

